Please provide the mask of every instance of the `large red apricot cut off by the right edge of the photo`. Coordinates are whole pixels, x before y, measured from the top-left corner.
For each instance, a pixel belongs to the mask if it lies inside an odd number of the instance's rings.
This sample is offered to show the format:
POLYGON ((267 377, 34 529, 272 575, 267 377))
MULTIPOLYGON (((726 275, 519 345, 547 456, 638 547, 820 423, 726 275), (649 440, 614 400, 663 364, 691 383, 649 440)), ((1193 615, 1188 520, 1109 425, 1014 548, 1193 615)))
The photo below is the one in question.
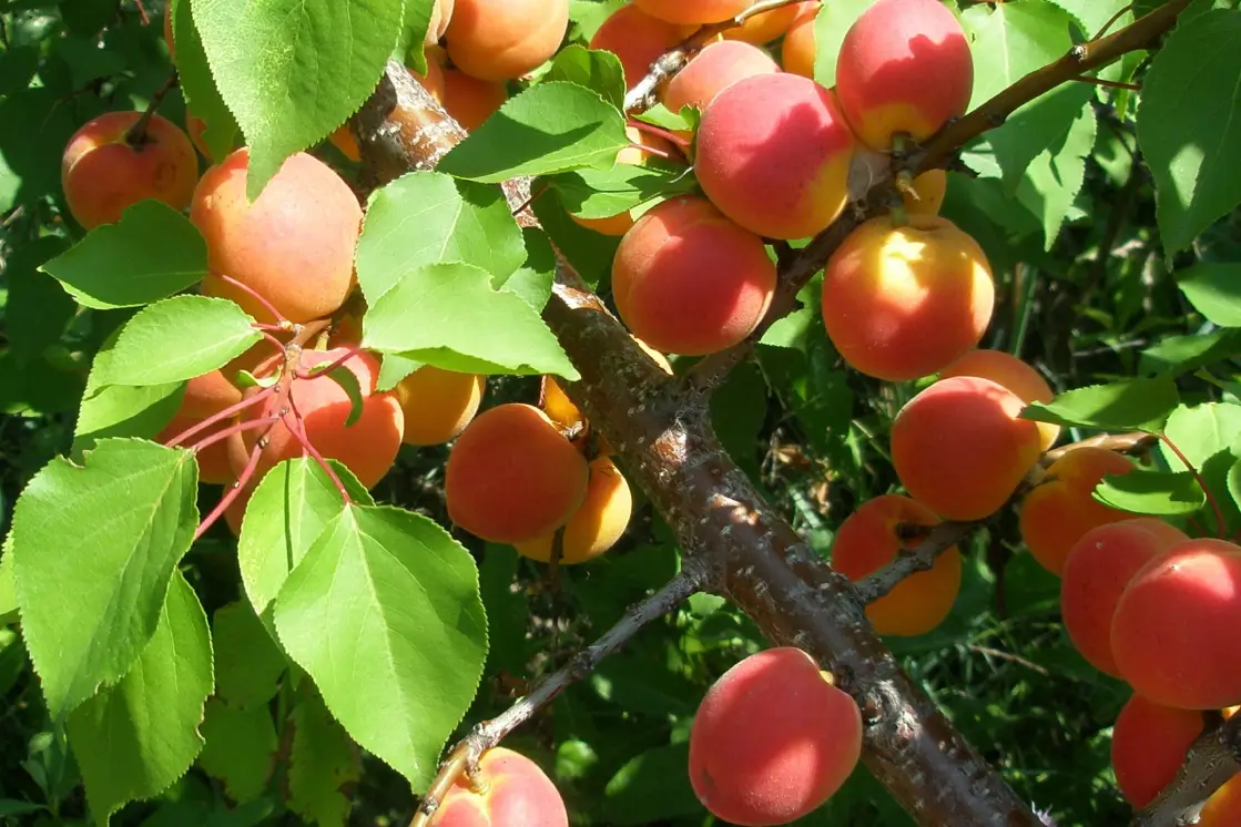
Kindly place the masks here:
POLYGON ((1169 707, 1241 703, 1241 548, 1191 539, 1147 563, 1112 620, 1112 655, 1136 692, 1169 707))

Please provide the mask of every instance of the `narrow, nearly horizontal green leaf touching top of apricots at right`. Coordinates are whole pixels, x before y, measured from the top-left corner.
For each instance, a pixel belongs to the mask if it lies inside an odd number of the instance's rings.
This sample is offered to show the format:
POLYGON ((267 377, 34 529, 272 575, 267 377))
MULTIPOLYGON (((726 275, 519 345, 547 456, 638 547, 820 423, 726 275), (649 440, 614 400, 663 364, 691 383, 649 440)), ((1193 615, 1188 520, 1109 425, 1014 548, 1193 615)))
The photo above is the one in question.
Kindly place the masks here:
POLYGON ((1021 418, 1069 428, 1158 433, 1178 404, 1180 396, 1170 377, 1123 379, 1069 391, 1047 404, 1035 402, 1021 418))

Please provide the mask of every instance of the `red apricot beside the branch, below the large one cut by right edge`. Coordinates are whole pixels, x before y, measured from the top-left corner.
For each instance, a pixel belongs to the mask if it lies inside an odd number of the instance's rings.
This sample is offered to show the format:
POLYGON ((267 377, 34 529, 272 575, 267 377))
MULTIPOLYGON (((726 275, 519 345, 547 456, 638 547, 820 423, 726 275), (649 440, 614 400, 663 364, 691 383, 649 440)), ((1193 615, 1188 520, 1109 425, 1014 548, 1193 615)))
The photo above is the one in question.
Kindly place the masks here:
POLYGON ((1140 694, 1129 698, 1112 728, 1112 770, 1134 808, 1154 801, 1176 777, 1204 723, 1200 712, 1165 707, 1140 694))

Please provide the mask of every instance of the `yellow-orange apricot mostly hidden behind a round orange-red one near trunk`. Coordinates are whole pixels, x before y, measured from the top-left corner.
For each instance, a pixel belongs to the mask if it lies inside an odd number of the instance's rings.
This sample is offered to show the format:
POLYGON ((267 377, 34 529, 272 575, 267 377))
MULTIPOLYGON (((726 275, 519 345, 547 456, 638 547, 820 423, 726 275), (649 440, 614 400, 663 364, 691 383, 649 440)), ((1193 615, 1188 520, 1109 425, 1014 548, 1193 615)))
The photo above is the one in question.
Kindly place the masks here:
MULTIPOLYGON (((588 563, 608 552, 624 534, 633 515, 633 492, 629 482, 607 456, 591 462, 591 481, 586 500, 565 524, 560 562, 565 565, 588 563)), ((551 562, 555 532, 536 539, 516 543, 517 552, 540 563, 551 562)))

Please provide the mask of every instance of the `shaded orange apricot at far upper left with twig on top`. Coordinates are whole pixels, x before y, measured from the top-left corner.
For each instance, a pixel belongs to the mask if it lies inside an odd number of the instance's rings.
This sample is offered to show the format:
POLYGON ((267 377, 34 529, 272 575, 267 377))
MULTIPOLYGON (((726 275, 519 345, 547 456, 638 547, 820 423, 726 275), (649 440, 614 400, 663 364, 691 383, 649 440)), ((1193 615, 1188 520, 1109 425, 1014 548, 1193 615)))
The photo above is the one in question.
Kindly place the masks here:
POLYGON ((199 182, 199 156, 180 126, 161 115, 146 124, 146 143, 125 135, 139 112, 109 112, 83 124, 65 146, 61 186, 69 212, 86 229, 120 221, 139 201, 155 198, 174 210, 190 206, 199 182))

